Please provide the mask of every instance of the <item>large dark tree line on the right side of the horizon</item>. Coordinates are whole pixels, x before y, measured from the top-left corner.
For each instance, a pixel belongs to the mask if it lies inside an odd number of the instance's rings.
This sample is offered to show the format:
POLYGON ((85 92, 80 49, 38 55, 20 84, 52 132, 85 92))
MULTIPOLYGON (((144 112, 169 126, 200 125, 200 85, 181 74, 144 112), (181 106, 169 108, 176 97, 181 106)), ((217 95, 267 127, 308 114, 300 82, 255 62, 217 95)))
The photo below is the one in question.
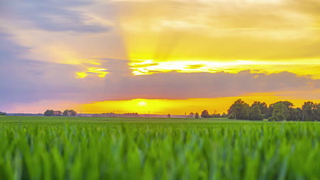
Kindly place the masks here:
POLYGON ((265 102, 254 102, 251 106, 237 100, 228 109, 229 119, 248 119, 269 121, 320 121, 320 104, 304 102, 295 108, 292 102, 280 101, 267 106, 265 102))

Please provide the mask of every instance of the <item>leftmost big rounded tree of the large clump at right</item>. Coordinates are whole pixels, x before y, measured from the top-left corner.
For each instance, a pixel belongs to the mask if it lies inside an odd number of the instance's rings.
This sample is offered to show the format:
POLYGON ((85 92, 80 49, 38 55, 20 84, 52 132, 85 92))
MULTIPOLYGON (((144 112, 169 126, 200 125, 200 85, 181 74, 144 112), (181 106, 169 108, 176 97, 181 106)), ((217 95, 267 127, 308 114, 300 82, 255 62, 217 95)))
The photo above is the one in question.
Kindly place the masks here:
POLYGON ((249 104, 241 99, 235 101, 228 109, 229 119, 230 117, 235 117, 235 119, 249 119, 249 107, 249 104))

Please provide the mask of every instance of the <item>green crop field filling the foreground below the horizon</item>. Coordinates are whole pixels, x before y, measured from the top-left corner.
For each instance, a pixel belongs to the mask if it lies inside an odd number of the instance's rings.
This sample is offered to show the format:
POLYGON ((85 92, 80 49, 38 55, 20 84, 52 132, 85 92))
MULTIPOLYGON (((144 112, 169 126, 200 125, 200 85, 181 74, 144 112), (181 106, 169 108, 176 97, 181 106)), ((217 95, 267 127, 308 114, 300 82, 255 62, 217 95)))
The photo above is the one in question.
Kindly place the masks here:
POLYGON ((0 179, 320 179, 320 123, 0 117, 0 179))

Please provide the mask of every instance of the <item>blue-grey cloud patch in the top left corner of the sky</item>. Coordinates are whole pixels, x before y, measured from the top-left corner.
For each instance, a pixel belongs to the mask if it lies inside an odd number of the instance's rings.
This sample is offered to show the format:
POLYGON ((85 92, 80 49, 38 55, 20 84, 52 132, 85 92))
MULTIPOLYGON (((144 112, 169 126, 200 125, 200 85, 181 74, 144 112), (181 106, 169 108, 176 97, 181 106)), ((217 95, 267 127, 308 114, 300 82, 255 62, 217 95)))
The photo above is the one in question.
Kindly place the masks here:
MULTIPOLYGON (((103 25, 77 7, 90 5, 90 1, 8 1, 3 3, 0 14, 3 20, 18 20, 19 24, 31 23, 45 31, 70 31, 75 33, 100 33, 111 26, 103 25)), ((17 22, 16 22, 17 23, 17 22)))

